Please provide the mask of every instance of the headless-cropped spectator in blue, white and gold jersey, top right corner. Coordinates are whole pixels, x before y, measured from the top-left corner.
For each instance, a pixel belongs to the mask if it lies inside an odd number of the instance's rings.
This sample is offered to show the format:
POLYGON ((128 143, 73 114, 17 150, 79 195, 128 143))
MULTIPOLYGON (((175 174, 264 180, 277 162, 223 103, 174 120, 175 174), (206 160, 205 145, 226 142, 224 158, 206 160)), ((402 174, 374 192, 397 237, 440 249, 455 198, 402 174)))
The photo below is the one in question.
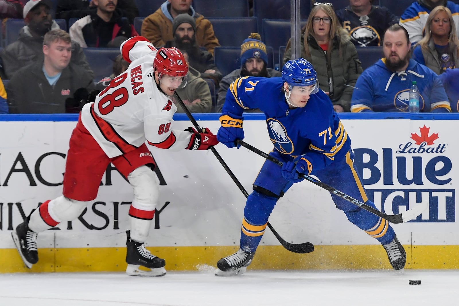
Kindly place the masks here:
POLYGON ((417 0, 403 12, 399 22, 408 31, 412 45, 422 39, 425 22, 436 6, 448 7, 453 14, 456 33, 459 33, 459 4, 448 0, 417 0))

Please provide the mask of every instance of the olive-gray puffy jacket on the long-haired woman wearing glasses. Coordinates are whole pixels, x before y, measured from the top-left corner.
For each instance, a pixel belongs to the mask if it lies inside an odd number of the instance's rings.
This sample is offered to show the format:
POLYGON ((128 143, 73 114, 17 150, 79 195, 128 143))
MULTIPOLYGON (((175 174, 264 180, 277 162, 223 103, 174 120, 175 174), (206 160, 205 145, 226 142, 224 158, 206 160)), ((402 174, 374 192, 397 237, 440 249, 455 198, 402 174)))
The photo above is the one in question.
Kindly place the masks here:
MULTIPOLYGON (((304 46, 304 32, 301 31, 301 45, 304 46)), ((309 53, 311 56, 306 56, 304 48, 301 49, 301 56, 313 64, 319 79, 320 89, 330 93, 330 99, 333 105, 341 105, 344 111, 351 111, 351 97, 353 87, 357 82, 357 78, 363 72, 362 64, 358 59, 357 50, 354 44, 349 39, 349 35, 336 36, 333 39, 333 47, 328 52, 330 54, 330 62, 328 56, 322 48, 317 44, 317 41, 311 36, 308 36, 309 53), (341 54, 339 53, 338 39, 341 39, 341 54)), ((287 43, 283 62, 290 60, 290 40, 287 43)))

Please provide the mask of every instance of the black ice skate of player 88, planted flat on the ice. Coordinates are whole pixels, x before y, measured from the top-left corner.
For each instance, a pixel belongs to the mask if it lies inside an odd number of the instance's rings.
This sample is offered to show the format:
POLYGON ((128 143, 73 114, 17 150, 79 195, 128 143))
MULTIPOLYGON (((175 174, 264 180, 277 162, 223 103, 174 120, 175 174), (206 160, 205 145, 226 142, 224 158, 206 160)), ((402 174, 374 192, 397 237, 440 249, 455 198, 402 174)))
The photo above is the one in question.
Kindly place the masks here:
POLYGON ((127 230, 128 240, 126 241, 127 253, 126 262, 128 267, 126 273, 130 276, 163 276, 166 275, 166 261, 154 256, 145 248, 143 242, 137 242, 131 239, 130 231, 127 230), (150 271, 140 270, 139 267, 146 267, 150 271))

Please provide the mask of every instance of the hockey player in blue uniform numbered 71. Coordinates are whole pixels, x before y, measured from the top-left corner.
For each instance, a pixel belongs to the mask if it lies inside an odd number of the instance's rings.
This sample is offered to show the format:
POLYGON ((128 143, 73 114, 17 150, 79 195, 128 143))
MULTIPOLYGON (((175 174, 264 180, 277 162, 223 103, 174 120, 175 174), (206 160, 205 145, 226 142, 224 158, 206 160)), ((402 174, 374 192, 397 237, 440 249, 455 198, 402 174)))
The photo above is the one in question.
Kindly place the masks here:
MULTIPOLYGON (((242 77, 229 86, 220 117, 217 139, 229 148, 244 138, 245 109, 259 108, 266 116, 271 156, 283 166, 265 161, 248 196, 242 219, 240 249, 217 262, 216 275, 246 271, 260 243, 268 218, 277 200, 293 183, 303 180, 299 173, 317 176, 325 184, 375 207, 368 200, 353 164, 351 139, 330 98, 319 89, 313 66, 305 59, 287 61, 282 78, 242 77)), ((347 219, 377 239, 395 270, 405 266, 406 253, 389 223, 337 196, 332 196, 347 219)))

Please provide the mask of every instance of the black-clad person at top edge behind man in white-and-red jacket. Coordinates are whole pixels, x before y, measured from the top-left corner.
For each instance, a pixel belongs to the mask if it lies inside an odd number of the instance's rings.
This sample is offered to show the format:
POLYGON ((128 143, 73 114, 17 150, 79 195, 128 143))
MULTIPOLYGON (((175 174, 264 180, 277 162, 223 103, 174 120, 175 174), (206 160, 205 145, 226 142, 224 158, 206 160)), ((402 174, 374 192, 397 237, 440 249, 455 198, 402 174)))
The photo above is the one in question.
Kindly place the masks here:
MULTIPOLYGON (((117 8, 130 23, 134 22, 135 17, 139 17, 139 9, 134 0, 118 0, 117 8)), ((91 0, 57 0, 56 18, 66 19, 68 22, 70 18, 83 18, 95 9, 96 6, 91 0)))

